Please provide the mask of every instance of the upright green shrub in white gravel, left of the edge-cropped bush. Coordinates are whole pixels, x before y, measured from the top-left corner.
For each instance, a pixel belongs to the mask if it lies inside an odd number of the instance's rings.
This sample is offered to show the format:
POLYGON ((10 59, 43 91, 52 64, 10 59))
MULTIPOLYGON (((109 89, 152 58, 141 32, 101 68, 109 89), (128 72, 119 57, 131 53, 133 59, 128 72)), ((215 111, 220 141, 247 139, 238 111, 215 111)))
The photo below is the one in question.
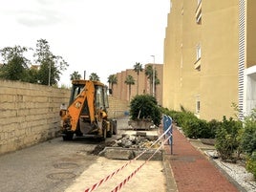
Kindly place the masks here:
POLYGON ((215 147, 222 160, 236 162, 239 158, 239 133, 241 129, 241 121, 234 120, 232 117, 227 120, 226 117, 224 117, 222 125, 217 130, 215 141, 215 147), (237 153, 236 156, 235 153, 237 153))

